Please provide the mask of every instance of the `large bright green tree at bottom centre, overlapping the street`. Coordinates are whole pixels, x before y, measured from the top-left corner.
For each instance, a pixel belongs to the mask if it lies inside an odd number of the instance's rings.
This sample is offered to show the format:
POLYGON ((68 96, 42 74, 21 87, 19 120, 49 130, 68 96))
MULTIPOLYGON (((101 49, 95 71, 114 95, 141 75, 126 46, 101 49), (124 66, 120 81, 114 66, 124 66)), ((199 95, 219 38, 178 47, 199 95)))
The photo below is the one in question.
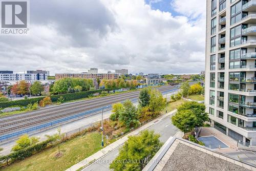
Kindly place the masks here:
POLYGON ((161 148, 163 143, 159 137, 154 131, 144 131, 139 136, 129 137, 110 168, 114 171, 142 170, 161 148))

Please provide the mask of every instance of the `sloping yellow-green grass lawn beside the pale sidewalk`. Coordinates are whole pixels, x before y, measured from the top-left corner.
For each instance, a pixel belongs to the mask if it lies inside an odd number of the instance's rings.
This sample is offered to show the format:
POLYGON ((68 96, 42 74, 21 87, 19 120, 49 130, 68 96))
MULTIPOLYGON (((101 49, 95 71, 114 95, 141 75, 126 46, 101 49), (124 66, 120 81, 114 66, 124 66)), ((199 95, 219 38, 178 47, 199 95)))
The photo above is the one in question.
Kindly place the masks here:
POLYGON ((66 170, 101 149, 101 134, 89 133, 76 137, 60 145, 63 156, 56 158, 58 146, 51 147, 25 160, 11 164, 2 170, 66 170))

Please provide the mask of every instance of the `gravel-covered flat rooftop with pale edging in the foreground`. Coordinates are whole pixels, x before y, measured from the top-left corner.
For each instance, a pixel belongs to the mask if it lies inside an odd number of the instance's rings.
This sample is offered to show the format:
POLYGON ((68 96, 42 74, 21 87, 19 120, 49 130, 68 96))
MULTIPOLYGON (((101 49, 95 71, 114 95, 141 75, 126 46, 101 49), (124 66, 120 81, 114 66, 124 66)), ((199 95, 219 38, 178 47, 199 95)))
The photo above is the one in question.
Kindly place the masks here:
POLYGON ((167 170, 256 170, 252 164, 233 159, 196 143, 170 137, 143 169, 167 170))

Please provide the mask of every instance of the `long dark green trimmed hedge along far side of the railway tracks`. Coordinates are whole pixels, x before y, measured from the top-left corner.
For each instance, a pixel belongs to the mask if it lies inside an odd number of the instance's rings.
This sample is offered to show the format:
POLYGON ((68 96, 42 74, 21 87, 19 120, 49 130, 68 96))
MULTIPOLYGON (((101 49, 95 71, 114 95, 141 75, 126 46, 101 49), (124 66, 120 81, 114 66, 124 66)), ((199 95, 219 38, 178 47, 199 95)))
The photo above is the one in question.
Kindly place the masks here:
MULTIPOLYGON (((92 90, 92 91, 86 91, 86 92, 59 94, 59 95, 50 96, 50 98, 51 98, 52 102, 56 102, 60 96, 62 96, 65 99, 65 101, 77 100, 77 99, 81 99, 81 98, 86 98, 94 93, 101 93, 102 91, 109 91, 109 90, 92 90)), ((36 98, 30 98, 30 99, 1 102, 0 108, 8 108, 11 106, 26 106, 29 103, 33 104, 35 102, 39 102, 43 98, 44 97, 36 97, 36 98)))

